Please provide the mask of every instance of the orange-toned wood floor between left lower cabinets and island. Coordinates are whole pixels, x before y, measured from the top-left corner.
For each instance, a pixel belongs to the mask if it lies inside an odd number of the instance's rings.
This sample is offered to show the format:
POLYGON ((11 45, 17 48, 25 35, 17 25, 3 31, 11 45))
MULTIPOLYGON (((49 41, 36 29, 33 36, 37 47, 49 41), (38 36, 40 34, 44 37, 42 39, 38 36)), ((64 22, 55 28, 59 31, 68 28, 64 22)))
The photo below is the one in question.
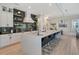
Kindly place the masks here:
POLYGON ((0 49, 0 55, 20 55, 22 48, 20 43, 13 44, 0 49))

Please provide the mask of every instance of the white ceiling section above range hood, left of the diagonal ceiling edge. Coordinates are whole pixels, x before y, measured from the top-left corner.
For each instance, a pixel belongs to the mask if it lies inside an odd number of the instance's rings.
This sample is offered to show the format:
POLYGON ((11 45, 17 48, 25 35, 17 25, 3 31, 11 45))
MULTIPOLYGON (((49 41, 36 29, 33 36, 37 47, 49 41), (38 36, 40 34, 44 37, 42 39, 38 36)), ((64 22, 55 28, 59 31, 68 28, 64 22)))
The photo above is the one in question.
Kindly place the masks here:
POLYGON ((41 15, 52 16, 52 17, 62 15, 62 13, 58 10, 55 4, 52 4, 52 6, 49 6, 49 3, 30 3, 23 5, 26 8, 31 6, 30 11, 34 14, 41 14, 41 15))

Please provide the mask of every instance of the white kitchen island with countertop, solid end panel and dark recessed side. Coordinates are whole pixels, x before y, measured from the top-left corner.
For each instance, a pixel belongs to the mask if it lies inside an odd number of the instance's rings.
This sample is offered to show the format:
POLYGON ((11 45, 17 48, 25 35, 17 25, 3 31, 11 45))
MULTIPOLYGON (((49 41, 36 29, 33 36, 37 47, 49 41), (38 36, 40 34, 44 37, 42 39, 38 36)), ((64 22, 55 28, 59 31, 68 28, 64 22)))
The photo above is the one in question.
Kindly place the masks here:
POLYGON ((41 32, 39 35, 37 35, 37 33, 38 33, 37 31, 23 33, 22 38, 21 38, 23 54, 42 55, 42 47, 50 41, 50 37, 52 36, 61 37, 60 30, 41 32))

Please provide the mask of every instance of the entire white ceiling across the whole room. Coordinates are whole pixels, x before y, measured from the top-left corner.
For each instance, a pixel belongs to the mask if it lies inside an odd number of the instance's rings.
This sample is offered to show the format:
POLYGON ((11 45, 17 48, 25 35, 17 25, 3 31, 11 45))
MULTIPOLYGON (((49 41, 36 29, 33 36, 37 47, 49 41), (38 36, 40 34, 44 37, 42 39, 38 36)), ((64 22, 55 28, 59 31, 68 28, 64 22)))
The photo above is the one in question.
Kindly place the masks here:
POLYGON ((63 15, 79 15, 79 3, 52 3, 50 6, 49 3, 8 3, 8 5, 14 8, 19 7, 26 12, 27 8, 31 7, 31 13, 51 17, 63 15))

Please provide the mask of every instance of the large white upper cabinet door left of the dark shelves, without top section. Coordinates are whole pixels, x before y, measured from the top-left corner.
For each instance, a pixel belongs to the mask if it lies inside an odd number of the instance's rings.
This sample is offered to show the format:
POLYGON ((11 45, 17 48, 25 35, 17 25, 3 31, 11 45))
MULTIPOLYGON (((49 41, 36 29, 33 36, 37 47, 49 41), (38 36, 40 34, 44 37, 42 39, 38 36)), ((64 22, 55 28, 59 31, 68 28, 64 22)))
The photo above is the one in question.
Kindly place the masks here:
POLYGON ((1 11, 0 27, 13 27, 13 13, 1 11))

